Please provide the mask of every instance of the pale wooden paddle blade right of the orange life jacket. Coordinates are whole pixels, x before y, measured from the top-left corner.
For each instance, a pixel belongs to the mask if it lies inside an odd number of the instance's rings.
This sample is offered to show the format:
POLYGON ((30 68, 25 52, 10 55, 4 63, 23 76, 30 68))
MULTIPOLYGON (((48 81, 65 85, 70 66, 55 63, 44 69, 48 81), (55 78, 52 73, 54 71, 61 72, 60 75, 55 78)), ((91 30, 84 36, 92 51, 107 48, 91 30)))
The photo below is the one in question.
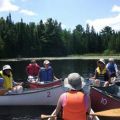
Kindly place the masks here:
POLYGON ((120 117, 120 108, 91 113, 93 116, 120 117))

